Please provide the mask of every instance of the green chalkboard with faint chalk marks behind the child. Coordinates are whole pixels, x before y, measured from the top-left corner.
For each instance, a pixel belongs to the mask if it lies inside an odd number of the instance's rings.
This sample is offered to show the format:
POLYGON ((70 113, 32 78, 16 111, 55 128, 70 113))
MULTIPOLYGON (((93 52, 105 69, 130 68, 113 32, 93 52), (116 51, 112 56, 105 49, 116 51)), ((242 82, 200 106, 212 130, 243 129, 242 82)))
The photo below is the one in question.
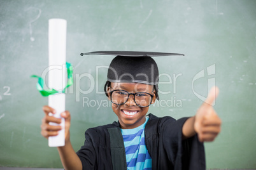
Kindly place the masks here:
POLYGON ((222 132, 205 143, 208 168, 256 168, 256 1, 0 1, 0 166, 62 167, 40 134, 48 98, 36 79, 48 66, 48 20, 68 22, 67 61, 75 84, 66 95, 71 142, 86 129, 117 121, 103 94, 113 56, 99 50, 159 51, 160 101, 150 112, 192 116, 210 86, 222 132), (209 87, 208 87, 209 86, 209 87))

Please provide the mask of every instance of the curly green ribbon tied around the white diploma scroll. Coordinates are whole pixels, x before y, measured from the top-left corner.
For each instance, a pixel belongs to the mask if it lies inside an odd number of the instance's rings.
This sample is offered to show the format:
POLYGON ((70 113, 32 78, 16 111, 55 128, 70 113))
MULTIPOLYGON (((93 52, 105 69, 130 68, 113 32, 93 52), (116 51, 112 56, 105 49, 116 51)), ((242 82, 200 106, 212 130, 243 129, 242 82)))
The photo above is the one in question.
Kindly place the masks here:
POLYGON ((49 95, 54 95, 56 93, 65 93, 66 88, 71 86, 73 84, 73 67, 71 63, 66 62, 66 67, 67 67, 67 73, 68 73, 68 82, 66 87, 62 91, 57 91, 55 89, 47 89, 45 90, 43 88, 43 78, 39 77, 38 75, 31 75, 33 78, 38 78, 38 83, 36 84, 36 89, 41 93, 42 96, 49 96, 49 95))

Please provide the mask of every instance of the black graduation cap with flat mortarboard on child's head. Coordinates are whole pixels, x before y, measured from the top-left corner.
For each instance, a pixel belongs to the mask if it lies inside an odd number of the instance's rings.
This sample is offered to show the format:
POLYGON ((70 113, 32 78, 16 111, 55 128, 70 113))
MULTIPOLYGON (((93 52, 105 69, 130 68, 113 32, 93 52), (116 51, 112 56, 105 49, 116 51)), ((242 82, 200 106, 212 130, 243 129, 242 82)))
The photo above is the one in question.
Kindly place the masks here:
POLYGON ((94 51, 80 55, 115 55, 108 69, 110 82, 138 82, 157 85, 159 70, 151 56, 183 55, 177 53, 159 53, 146 51, 94 51))

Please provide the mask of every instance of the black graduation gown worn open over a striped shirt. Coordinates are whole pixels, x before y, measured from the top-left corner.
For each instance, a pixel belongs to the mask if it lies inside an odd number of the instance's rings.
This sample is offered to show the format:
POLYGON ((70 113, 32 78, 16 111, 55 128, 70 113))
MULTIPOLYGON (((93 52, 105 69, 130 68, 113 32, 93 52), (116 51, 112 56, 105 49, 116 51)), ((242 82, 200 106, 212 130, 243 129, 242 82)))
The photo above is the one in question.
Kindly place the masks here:
MULTIPOLYGON (((182 140, 182 126, 187 117, 156 117, 149 114, 145 143, 152 157, 152 169, 205 170, 204 145, 197 135, 182 140)), ((124 141, 119 122, 87 129, 85 143, 77 155, 85 169, 127 169, 124 141)))

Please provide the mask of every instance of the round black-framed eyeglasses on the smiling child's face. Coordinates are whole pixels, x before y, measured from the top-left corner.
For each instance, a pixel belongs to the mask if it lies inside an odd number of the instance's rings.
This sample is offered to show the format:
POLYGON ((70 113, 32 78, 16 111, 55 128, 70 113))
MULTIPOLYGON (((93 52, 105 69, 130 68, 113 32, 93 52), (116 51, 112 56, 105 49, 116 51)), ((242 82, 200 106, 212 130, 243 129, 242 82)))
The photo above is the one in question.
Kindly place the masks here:
POLYGON ((128 93, 123 89, 115 89, 110 91, 111 102, 116 105, 123 105, 128 101, 129 96, 133 95, 134 102, 139 107, 148 107, 151 105, 153 95, 146 92, 128 93))

